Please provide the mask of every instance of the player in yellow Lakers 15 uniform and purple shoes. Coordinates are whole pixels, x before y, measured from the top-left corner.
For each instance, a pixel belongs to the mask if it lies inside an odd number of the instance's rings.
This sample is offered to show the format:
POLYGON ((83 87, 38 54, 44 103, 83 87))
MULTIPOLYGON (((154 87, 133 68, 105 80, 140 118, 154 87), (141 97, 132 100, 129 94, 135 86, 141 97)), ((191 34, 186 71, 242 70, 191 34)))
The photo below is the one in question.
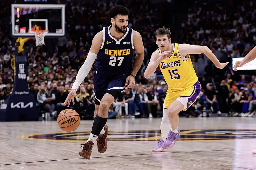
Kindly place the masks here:
POLYGON ((161 152, 175 144, 180 137, 179 112, 187 110, 200 95, 201 85, 198 82, 189 54, 204 53, 220 69, 228 64, 228 62, 220 63, 206 46, 171 44, 170 35, 171 32, 167 28, 156 30, 156 44, 159 48, 152 54, 144 73, 145 78, 149 78, 159 66, 169 86, 164 100, 163 117, 160 125, 162 138, 152 149, 152 152, 161 152))

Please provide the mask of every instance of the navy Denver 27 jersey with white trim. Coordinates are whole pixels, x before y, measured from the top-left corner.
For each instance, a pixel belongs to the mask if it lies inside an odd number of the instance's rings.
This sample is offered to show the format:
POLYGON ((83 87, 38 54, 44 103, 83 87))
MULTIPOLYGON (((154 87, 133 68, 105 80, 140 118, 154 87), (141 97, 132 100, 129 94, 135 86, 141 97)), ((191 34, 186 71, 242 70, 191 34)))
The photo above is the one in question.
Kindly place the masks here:
POLYGON ((132 72, 133 29, 128 28, 117 41, 110 35, 110 27, 103 28, 103 42, 97 54, 95 67, 98 73, 109 75, 129 75, 132 72))

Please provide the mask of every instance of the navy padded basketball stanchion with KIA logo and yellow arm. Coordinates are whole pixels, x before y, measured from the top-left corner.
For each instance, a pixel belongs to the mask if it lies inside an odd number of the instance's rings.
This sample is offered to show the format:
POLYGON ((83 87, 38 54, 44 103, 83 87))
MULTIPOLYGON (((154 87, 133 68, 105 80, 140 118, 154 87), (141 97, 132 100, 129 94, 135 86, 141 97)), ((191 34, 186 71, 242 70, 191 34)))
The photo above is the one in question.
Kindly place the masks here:
MULTIPOLYGON (((27 75, 27 57, 19 56, 18 47, 24 45, 30 38, 19 38, 16 43, 12 68, 15 74, 15 82, 12 94, 1 103, 0 121, 36 121, 39 120, 39 110, 35 97, 29 93, 27 75), (22 42, 21 42, 22 41, 22 42)), ((24 53, 22 49, 20 52, 24 53)))

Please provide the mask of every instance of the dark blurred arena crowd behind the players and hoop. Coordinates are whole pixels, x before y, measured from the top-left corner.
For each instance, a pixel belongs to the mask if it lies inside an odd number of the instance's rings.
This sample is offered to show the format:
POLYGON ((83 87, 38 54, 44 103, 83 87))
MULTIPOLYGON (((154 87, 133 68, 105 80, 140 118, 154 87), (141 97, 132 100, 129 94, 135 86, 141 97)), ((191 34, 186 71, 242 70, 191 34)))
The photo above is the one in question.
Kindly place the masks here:
MULTIPOLYGON (((0 101, 12 94, 15 76, 11 66, 17 38, 10 36, 11 4, 0 2, 0 101)), ((39 2, 43 3, 43 2, 39 2)), ((38 120, 56 120, 75 81, 79 68, 86 60, 93 37, 110 25, 108 10, 124 5, 130 10, 129 27, 143 38, 145 58, 132 89, 125 89, 124 99, 116 100, 109 118, 162 117, 167 85, 158 68, 145 79, 144 70, 151 54, 157 49, 155 31, 160 27, 171 30, 172 43, 208 46, 220 62, 229 62, 217 69, 204 55, 190 55, 202 85, 200 98, 180 116, 242 116, 255 117, 256 63, 234 72, 232 63, 242 60, 256 44, 256 2, 253 0, 95 0, 58 1, 66 5, 66 36, 45 38, 44 46, 29 39, 27 50, 27 85, 35 97, 38 120), (47 99, 54 94, 55 99, 47 99)), ((136 53, 134 53, 134 57, 136 53)), ((94 67, 77 91, 75 105, 81 119, 93 119, 94 67)), ((1 106, 2 108, 2 106, 1 106)), ((4 108, 4 107, 3 107, 4 108)), ((24 120, 22 117, 19 120, 24 120)))

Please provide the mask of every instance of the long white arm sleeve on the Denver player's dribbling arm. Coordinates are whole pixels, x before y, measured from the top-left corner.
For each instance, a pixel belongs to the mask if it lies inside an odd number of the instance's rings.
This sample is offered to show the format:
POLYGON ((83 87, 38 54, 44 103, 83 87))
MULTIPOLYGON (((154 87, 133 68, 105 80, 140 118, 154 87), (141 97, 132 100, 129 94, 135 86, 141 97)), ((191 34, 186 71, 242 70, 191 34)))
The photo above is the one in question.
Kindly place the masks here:
POLYGON ((94 63, 96 59, 97 54, 89 52, 87 55, 86 60, 84 61, 84 64, 79 69, 76 80, 73 83, 73 86, 71 89, 77 89, 79 88, 80 84, 84 81, 85 77, 88 75, 89 71, 92 68, 92 64, 94 63))

